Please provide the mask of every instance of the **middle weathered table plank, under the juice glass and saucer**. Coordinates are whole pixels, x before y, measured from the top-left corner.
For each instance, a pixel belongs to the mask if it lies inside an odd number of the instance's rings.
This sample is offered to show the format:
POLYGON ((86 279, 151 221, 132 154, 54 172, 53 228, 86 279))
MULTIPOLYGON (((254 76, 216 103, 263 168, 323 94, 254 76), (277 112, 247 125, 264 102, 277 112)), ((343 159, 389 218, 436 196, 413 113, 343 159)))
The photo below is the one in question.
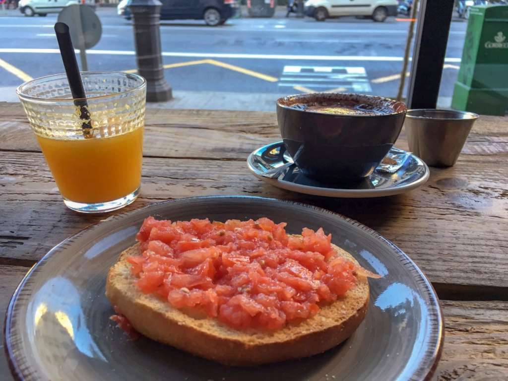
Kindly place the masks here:
MULTIPOLYGON (((56 243, 102 218, 77 215, 63 205, 40 153, 1 152, 0 168, 4 263, 36 261, 56 243)), ((507 177, 500 163, 475 166, 466 157, 452 169, 432 169, 429 182, 407 194, 347 200, 269 186, 250 175, 244 161, 145 157, 142 194, 129 209, 205 195, 306 202, 377 230, 408 253, 433 282, 491 285, 505 288, 508 295, 507 177)))

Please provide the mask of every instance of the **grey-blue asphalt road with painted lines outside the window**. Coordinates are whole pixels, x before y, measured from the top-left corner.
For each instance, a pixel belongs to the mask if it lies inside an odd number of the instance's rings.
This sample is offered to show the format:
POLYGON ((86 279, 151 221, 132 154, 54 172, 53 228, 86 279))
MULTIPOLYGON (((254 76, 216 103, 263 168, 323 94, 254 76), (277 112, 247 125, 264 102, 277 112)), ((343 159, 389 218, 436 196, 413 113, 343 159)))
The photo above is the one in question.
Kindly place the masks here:
MULTIPOLYGON (((87 54, 89 70, 136 68, 132 22, 116 9, 98 9, 101 41, 87 54)), ((0 87, 28 77, 63 72, 52 26, 56 15, 0 17, 0 87), (7 65, 5 65, 7 63, 7 65), (10 70, 6 70, 10 68, 10 70)), ((202 21, 163 21, 166 78, 175 90, 290 94, 355 91, 395 96, 408 22, 368 19, 230 19, 224 26, 202 21)), ((440 96, 452 96, 466 23, 452 22, 440 96)), ((0 95, 1 98, 1 95, 0 95)))

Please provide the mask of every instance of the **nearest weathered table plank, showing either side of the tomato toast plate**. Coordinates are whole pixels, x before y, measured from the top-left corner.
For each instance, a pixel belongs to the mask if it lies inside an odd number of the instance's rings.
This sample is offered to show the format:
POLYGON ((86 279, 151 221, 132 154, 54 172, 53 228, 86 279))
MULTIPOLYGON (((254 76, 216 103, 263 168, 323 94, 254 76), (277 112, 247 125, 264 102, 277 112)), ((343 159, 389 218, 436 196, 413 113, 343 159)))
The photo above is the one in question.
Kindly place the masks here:
MULTIPOLYGON (((0 266, 0 315, 4 316, 12 293, 27 270, 0 266)), ((441 305, 445 342, 434 380, 508 379, 508 302, 442 301, 441 305)), ((3 336, 0 339, 3 346, 3 336)), ((2 347, 0 351, 3 352, 2 347)), ((11 381, 5 356, 0 357, 0 379, 11 381)))

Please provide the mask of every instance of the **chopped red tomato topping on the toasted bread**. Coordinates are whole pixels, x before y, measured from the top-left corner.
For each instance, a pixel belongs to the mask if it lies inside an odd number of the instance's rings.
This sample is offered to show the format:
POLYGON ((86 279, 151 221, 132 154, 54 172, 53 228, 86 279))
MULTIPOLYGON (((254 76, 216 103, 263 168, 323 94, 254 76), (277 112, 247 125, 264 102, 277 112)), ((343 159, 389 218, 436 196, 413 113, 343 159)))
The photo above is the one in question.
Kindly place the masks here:
POLYGON ((285 225, 268 218, 148 217, 137 234, 142 255, 128 262, 142 292, 175 308, 199 308, 237 329, 278 329, 308 319, 355 287, 358 275, 375 276, 333 258, 332 236, 322 228, 288 236, 285 225))

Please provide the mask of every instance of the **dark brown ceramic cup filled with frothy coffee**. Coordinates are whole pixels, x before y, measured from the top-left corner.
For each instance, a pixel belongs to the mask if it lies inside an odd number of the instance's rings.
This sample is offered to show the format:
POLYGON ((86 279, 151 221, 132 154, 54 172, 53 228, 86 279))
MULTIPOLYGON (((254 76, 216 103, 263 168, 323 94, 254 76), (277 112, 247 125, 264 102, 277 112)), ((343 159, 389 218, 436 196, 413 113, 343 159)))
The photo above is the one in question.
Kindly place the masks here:
POLYGON ((310 178, 339 182, 370 175, 397 140, 406 106, 362 94, 312 93, 277 100, 280 135, 298 168, 310 178), (366 104, 382 114, 329 114, 296 104, 366 104))

